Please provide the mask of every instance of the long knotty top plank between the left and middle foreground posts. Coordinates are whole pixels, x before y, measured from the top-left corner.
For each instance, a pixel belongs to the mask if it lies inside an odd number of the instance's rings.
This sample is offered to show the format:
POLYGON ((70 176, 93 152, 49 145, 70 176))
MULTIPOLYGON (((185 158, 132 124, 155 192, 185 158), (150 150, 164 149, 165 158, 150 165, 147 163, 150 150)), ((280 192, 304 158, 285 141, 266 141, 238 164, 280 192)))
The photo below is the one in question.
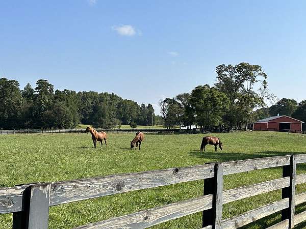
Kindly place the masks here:
POLYGON ((70 182, 56 182, 52 184, 50 206, 140 189, 207 179, 214 176, 214 165, 169 168, 70 182))

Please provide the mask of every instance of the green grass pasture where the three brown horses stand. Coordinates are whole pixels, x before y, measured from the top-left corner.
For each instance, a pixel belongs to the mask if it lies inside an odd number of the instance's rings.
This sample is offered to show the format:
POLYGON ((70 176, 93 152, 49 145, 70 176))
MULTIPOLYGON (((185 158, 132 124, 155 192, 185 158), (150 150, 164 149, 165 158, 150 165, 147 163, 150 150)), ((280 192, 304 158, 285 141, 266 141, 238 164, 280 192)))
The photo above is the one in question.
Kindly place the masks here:
MULTIPOLYGON (((92 148, 90 134, 0 135, 0 187, 32 182, 53 182, 132 173, 206 162, 242 160, 306 152, 306 137, 278 132, 214 134, 223 151, 207 146, 200 152, 203 134, 146 135, 142 148, 130 150, 134 134, 109 134, 108 146, 92 148)), ((298 165, 298 174, 306 173, 298 165)), ((281 178, 281 168, 270 168, 224 177, 224 189, 281 178)), ((297 192, 306 191, 298 185, 297 192)), ((72 228, 90 222, 154 208, 203 194, 203 181, 187 182, 117 194, 50 208, 49 228, 72 228)), ((223 218, 281 199, 281 191, 250 197, 223 206, 223 218)), ((305 210, 303 206, 297 212, 305 210)), ((279 214, 243 228, 265 228, 280 220, 279 214)), ((304 228, 306 224, 297 228, 304 228)), ((12 214, 0 215, 0 228, 12 227, 12 214)), ((152 228, 200 228, 201 213, 152 228)))

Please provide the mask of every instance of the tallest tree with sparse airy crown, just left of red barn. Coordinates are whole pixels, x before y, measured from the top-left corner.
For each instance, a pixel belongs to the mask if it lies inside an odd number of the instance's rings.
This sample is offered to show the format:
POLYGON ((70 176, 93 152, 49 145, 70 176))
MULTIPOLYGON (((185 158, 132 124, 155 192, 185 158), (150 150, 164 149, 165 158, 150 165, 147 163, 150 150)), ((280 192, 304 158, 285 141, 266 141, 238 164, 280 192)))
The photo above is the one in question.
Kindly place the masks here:
POLYGON ((267 74, 259 65, 240 63, 219 65, 216 68, 215 87, 227 95, 229 110, 223 117, 228 128, 246 124, 252 118, 255 108, 265 105, 265 99, 273 99, 267 88, 267 74))

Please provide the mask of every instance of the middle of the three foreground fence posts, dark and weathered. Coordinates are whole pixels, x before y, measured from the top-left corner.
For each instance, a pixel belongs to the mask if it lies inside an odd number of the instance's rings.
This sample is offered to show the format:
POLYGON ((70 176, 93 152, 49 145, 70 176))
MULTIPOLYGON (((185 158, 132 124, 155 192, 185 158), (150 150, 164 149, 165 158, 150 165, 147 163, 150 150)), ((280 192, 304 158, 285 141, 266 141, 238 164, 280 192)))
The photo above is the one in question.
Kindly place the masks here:
POLYGON ((220 229, 222 223, 223 164, 216 163, 214 177, 204 180, 204 195, 213 194, 213 208, 203 211, 202 227, 220 229))

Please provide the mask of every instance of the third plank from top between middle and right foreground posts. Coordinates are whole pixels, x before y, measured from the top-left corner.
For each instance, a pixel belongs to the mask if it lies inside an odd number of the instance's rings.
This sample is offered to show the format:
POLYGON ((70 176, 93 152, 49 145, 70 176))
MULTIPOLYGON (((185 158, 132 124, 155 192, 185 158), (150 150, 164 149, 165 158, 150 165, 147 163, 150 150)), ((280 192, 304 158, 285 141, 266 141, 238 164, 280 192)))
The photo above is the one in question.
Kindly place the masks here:
POLYGON ((277 201, 257 209, 253 209, 231 219, 225 219, 222 221, 221 228, 236 229, 261 218, 264 218, 268 215, 274 214, 278 211, 282 211, 285 208, 289 208, 289 198, 282 199, 281 201, 277 201))

